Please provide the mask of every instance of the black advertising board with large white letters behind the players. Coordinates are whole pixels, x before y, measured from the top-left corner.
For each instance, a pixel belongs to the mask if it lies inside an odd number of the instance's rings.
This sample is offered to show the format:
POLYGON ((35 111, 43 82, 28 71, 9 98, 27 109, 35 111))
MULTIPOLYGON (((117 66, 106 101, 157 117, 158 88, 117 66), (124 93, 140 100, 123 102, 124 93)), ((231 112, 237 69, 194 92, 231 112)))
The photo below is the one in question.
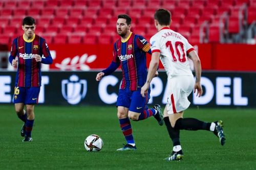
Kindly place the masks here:
MULTIPOLYGON (((40 104, 115 105, 121 72, 95 80, 98 72, 43 72, 40 104)), ((16 72, 0 72, 0 103, 12 103, 16 72)), ((165 104, 166 74, 152 81, 149 104, 165 104)), ((256 107, 256 73, 203 72, 203 96, 189 96, 192 107, 256 107)))

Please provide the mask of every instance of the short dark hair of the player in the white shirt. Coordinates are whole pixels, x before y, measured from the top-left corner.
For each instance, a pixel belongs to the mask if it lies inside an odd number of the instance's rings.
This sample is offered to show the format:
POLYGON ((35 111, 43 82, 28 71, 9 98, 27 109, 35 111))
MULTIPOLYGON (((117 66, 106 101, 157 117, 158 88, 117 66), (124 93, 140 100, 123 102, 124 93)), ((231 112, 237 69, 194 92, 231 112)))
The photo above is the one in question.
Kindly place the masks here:
POLYGON ((160 8, 155 12, 155 19, 158 21, 158 23, 162 26, 168 26, 170 25, 170 19, 172 14, 169 10, 160 8))

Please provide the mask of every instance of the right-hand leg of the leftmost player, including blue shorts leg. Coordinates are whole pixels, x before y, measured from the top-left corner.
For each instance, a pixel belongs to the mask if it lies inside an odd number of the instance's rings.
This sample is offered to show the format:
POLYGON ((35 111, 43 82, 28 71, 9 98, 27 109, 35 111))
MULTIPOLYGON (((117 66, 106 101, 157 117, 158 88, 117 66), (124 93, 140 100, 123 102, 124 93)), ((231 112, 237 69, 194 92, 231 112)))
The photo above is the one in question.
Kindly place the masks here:
POLYGON ((32 141, 31 133, 33 129, 35 114, 34 105, 38 103, 38 96, 40 87, 31 87, 26 89, 26 110, 27 110, 27 121, 26 121, 26 132, 23 141, 32 141))

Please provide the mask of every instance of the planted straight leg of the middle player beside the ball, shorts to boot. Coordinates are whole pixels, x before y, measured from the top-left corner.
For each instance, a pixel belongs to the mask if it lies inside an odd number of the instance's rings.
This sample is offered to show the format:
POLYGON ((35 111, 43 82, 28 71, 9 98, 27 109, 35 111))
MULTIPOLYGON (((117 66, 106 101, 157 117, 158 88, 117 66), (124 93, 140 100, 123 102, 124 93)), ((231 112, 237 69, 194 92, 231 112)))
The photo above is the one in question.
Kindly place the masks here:
POLYGON ((131 91, 119 90, 117 97, 117 117, 119 119, 120 128, 126 140, 124 147, 119 148, 117 151, 136 150, 135 141, 133 137, 132 124, 128 117, 131 91))

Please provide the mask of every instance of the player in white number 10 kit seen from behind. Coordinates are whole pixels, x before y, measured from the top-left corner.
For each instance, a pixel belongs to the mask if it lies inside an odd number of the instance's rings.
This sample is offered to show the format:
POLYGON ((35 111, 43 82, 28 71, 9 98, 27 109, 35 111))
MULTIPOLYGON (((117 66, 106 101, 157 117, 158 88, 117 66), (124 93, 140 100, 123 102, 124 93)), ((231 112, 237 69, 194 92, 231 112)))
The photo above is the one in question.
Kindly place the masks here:
POLYGON ((205 130, 213 132, 221 145, 225 143, 223 133, 223 122, 204 122, 195 118, 183 118, 184 111, 189 107, 188 95, 193 91, 196 96, 203 94, 201 86, 201 62, 193 46, 187 39, 169 28, 171 24, 171 14, 166 9, 158 9, 155 12, 155 26, 157 33, 151 37, 152 58, 146 83, 141 88, 141 95, 145 94, 150 88, 150 82, 157 70, 159 59, 165 66, 168 76, 168 97, 164 109, 164 122, 170 138, 173 141, 173 151, 167 161, 181 160, 183 151, 180 143, 180 130, 197 131, 205 130), (188 58, 190 58, 195 67, 196 81, 190 70, 188 58))

